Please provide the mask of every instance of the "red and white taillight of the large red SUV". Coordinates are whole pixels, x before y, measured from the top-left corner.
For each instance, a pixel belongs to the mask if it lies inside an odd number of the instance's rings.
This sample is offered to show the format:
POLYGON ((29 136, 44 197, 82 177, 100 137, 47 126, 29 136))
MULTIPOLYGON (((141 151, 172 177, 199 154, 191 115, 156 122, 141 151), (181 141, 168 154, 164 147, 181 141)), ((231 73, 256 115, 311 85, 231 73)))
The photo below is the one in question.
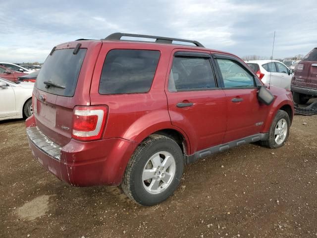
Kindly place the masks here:
POLYGON ((76 106, 73 110, 72 138, 98 140, 102 137, 107 117, 105 106, 76 106))

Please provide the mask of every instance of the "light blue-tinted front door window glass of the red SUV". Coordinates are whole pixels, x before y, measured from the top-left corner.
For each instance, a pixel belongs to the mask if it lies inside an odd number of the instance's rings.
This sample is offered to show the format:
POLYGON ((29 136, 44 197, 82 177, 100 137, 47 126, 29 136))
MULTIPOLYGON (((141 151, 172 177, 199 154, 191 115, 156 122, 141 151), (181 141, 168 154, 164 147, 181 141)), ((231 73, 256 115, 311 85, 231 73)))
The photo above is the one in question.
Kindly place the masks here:
POLYGON ((254 76, 238 62, 227 59, 216 60, 225 88, 253 88, 254 76))

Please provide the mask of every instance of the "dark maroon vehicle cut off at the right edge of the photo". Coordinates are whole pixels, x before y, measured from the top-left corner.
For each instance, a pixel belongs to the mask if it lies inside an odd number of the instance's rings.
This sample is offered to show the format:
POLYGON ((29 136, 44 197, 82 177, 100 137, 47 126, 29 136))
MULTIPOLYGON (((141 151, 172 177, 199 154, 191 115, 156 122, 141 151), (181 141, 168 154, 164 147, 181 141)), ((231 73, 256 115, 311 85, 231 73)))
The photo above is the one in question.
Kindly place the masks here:
POLYGON ((293 100, 298 104, 306 104, 317 96, 317 48, 314 48, 295 67, 291 91, 293 100))

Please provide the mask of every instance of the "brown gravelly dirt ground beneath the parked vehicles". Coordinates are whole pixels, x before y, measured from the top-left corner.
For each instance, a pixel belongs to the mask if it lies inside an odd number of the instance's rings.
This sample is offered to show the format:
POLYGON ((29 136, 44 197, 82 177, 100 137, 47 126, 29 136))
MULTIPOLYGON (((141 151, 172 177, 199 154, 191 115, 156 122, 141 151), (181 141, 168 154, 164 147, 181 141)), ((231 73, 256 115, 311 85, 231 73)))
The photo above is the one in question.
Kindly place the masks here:
POLYGON ((248 144, 186 166, 153 207, 59 181, 33 160, 24 121, 2 121, 0 237, 317 237, 317 116, 295 116, 282 148, 248 144))

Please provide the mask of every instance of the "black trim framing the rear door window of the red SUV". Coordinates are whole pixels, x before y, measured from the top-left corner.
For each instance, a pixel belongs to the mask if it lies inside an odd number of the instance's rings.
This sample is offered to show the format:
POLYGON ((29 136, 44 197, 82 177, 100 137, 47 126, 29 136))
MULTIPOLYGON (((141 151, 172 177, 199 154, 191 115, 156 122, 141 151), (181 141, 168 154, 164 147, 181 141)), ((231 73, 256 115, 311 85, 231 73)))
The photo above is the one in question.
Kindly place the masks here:
POLYGON ((211 60, 211 54, 209 54, 209 53, 192 52, 192 51, 176 51, 173 54, 173 56, 172 56, 172 63, 170 65, 170 68, 169 68, 169 71, 168 71, 167 75, 168 75, 168 77, 167 77, 167 91, 169 93, 212 91, 212 90, 221 89, 219 87, 219 85, 218 85, 218 79, 217 79, 217 75, 216 75, 216 70, 215 70, 213 62, 211 60), (173 68, 173 62, 174 62, 174 59, 176 57, 179 57, 179 58, 203 58, 203 59, 209 59, 209 63, 211 65, 211 71, 212 71, 212 74, 213 74, 213 80, 214 80, 215 87, 214 88, 201 88, 201 89, 199 89, 199 88, 197 88, 197 89, 180 89, 179 91, 176 91, 176 92, 169 91, 168 85, 169 85, 170 72, 171 72, 171 70, 173 68))

